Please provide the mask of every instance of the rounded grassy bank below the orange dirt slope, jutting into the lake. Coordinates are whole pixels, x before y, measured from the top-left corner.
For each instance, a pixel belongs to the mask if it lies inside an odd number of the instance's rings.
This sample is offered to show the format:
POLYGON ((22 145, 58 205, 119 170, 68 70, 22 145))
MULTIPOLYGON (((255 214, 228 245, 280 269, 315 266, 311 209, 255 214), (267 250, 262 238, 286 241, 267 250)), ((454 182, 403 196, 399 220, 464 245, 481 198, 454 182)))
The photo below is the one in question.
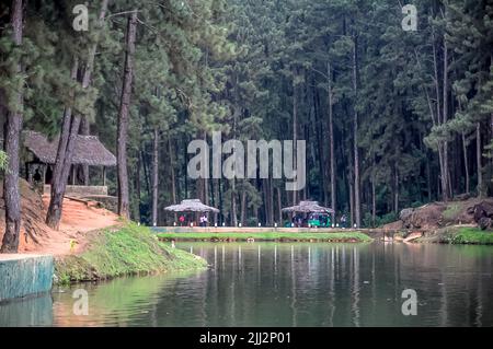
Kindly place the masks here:
POLYGON ((149 229, 128 223, 95 234, 81 255, 57 258, 55 275, 58 283, 68 283, 198 269, 206 265, 197 256, 160 243, 149 229))

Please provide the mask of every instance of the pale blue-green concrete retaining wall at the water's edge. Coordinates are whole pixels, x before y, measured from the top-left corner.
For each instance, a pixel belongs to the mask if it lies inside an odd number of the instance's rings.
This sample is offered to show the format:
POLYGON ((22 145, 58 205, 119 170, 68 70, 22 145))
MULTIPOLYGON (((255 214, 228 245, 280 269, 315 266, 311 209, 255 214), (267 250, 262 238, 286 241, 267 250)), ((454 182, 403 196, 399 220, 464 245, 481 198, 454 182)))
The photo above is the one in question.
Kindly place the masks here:
POLYGON ((0 255, 0 302, 49 291, 53 275, 53 256, 0 255))

